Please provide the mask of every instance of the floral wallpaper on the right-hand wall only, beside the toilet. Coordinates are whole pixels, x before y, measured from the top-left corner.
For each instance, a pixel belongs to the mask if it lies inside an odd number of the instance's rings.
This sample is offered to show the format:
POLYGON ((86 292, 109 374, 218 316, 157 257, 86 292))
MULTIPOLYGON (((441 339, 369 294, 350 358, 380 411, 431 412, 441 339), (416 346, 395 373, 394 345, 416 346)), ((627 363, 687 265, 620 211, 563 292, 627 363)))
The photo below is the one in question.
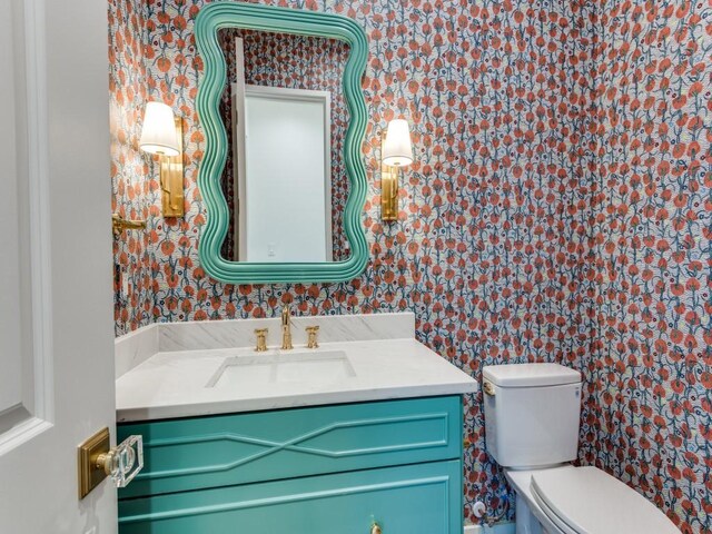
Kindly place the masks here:
POLYGON ((581 459, 712 532, 712 4, 606 0, 581 459))

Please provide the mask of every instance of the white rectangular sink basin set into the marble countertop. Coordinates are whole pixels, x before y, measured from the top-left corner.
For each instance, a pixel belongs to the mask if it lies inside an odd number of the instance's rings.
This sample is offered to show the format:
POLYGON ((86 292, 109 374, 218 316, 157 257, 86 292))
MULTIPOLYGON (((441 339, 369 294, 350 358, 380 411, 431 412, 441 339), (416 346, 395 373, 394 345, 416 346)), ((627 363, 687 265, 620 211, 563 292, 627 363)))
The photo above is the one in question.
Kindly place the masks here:
POLYGON ((263 353, 225 358, 205 387, 337 382, 355 376, 344 350, 263 353))

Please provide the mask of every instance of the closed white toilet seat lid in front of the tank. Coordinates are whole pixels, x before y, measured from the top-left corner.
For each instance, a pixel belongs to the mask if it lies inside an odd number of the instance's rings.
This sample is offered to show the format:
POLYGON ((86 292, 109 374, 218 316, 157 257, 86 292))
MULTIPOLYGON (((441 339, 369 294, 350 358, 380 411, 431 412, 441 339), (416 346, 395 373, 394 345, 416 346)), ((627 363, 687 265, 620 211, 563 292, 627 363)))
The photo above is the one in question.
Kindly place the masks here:
POLYGON ((563 532, 680 534, 653 503, 596 467, 537 472, 532 475, 531 490, 563 532))

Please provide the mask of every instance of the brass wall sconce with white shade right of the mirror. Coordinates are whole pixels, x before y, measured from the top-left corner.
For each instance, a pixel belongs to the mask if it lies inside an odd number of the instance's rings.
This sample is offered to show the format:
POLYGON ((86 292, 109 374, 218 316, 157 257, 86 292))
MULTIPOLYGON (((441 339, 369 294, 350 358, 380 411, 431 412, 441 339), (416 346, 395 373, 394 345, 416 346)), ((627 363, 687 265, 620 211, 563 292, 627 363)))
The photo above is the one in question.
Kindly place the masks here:
POLYGON ((394 119, 380 140, 380 218, 398 218, 398 177, 413 162, 411 129, 405 119, 394 119))

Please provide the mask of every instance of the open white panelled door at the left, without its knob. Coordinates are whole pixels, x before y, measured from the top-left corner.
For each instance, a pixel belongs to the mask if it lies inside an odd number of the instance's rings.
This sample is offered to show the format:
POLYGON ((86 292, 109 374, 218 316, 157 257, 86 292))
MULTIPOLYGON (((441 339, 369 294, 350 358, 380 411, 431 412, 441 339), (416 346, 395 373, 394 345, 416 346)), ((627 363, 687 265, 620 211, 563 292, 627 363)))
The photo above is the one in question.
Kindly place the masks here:
POLYGON ((3 376, 21 387, 2 406, 0 532, 113 534, 116 490, 106 481, 80 500, 77 475, 77 446, 116 425, 107 6, 8 8, 0 152, 18 190, 4 197, 1 265, 16 290, 0 312, 17 336, 0 357, 21 363, 16 382, 3 376))

